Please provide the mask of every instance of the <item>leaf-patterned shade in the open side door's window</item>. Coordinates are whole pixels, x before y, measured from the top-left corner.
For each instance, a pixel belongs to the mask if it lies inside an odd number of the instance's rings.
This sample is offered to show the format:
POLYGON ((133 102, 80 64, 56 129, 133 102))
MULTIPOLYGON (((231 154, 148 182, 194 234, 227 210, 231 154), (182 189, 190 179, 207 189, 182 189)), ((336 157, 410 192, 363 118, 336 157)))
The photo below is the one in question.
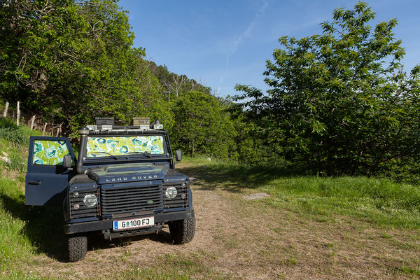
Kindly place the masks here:
POLYGON ((34 165, 63 165, 64 155, 70 155, 66 141, 35 140, 34 165))

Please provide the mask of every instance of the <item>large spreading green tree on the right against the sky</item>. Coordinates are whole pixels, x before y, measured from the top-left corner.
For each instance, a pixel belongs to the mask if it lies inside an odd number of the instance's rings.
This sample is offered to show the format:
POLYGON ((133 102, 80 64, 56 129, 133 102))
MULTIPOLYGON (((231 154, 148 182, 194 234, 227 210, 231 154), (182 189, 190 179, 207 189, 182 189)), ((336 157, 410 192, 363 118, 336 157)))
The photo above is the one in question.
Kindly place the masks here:
POLYGON ((377 174, 416 158, 419 135, 419 70, 407 74, 405 54, 393 37, 396 20, 368 22, 374 12, 358 2, 337 8, 323 33, 279 38, 267 60, 267 94, 237 85, 237 96, 263 139, 314 172, 377 174))

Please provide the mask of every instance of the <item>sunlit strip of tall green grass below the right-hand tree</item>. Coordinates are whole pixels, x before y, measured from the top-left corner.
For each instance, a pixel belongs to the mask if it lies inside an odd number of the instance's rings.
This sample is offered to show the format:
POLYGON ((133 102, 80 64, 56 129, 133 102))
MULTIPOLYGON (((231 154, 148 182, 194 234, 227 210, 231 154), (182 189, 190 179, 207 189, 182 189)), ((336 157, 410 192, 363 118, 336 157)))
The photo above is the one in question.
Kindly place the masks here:
POLYGON ((259 190, 267 204, 310 214, 349 215, 379 225, 420 228, 420 189, 367 177, 277 178, 259 190))

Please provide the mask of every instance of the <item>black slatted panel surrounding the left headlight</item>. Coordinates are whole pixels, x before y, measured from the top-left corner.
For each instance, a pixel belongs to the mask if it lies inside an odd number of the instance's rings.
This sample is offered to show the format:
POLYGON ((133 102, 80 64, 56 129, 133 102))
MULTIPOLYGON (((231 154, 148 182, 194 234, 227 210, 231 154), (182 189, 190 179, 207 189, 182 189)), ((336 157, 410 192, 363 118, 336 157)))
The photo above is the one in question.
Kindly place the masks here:
POLYGON ((69 204, 71 219, 99 216, 99 190, 97 188, 74 189, 71 193, 69 193, 69 204), (98 203, 95 207, 86 207, 85 204, 83 204, 83 197, 85 197, 85 195, 87 195, 88 193, 94 193, 94 195, 98 197, 98 203), (78 204, 78 209, 74 208, 76 204, 78 204))

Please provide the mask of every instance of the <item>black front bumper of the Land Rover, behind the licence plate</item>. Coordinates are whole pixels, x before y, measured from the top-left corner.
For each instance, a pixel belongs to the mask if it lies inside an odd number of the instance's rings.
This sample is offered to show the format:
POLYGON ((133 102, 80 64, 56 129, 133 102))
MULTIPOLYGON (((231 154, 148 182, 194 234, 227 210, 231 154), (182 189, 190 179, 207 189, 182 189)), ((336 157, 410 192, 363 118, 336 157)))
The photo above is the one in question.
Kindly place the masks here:
MULTIPOLYGON (((146 215, 147 216, 151 216, 146 215)), ((155 224, 157 223, 167 223, 170 221, 179 221, 186 218, 191 218, 194 216, 194 210, 188 211, 175 211, 175 212, 166 212, 154 214, 155 224)), ((136 216, 132 218, 143 218, 143 216, 136 216)), ((72 235, 74 233, 80 232, 94 232, 97 230, 112 230, 113 221, 117 221, 118 218, 107 219, 102 221, 92 221, 92 222, 83 222, 83 223, 69 223, 64 225, 64 233, 66 235, 72 235)))

